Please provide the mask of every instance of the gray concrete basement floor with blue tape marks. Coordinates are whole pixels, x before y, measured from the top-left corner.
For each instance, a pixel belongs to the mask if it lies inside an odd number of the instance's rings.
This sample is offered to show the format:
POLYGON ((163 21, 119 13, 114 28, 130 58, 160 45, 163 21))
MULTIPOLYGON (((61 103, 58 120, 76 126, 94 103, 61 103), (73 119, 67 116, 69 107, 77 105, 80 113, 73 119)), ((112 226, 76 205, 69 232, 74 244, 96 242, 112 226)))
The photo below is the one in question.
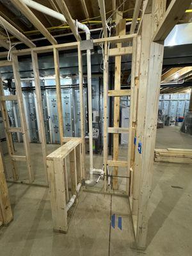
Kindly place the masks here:
MULTIPOLYGON (((22 154, 20 145, 15 145, 22 154)), ((58 145, 49 145, 52 152, 58 145)), ((177 127, 157 130, 156 148, 192 148, 192 136, 177 127)), ((35 178, 44 181, 40 145, 31 144, 35 178)), ((122 148, 122 156, 126 155, 122 148)), ((88 157, 86 158, 88 163, 88 157)), ((100 168, 101 156, 94 157, 100 168)), ((6 157, 9 171, 9 159, 6 157)), ((97 193, 81 193, 68 234, 52 231, 48 189, 8 183, 14 220, 0 229, 2 256, 74 255, 192 255, 192 164, 155 163, 150 198, 147 250, 134 249, 131 212, 127 198, 97 193), (122 230, 111 227, 110 216, 122 217, 122 230)), ((20 179, 28 175, 24 163, 20 179)))

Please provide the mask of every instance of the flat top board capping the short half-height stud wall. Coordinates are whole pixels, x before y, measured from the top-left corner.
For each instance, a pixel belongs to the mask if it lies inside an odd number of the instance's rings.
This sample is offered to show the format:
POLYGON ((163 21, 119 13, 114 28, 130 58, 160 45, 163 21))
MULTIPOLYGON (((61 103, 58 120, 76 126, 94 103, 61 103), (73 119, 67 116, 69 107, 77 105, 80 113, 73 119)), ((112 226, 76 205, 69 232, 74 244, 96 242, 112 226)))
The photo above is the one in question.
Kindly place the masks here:
POLYGON ((79 145, 79 140, 70 140, 49 154, 47 156, 47 160, 51 160, 53 158, 65 158, 72 150, 74 150, 74 148, 77 147, 77 145, 79 145))

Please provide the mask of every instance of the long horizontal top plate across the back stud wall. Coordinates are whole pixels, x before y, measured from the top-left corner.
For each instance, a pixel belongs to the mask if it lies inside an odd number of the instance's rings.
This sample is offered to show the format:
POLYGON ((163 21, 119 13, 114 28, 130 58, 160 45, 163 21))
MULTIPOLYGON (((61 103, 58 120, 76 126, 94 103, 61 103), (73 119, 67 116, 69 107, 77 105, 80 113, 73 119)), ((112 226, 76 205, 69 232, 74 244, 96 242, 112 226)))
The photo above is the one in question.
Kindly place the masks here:
MULTIPOLYGON (((104 44, 105 42, 109 42, 111 44, 132 42, 132 39, 134 37, 136 37, 136 34, 93 39, 93 45, 100 45, 102 43, 104 44)), ((48 45, 48 46, 42 46, 42 47, 33 46, 34 48, 31 48, 31 49, 22 49, 22 50, 12 51, 12 54, 15 54, 17 56, 24 56, 24 55, 31 54, 31 51, 35 51, 36 53, 44 53, 44 52, 52 52, 53 49, 57 49, 58 51, 64 51, 64 50, 67 51, 70 49, 77 49, 78 45, 79 45, 79 42, 72 42, 72 43, 58 44, 58 45, 48 45)), ((0 52, 0 58, 5 58, 7 57, 7 55, 8 55, 7 51, 0 52)))

